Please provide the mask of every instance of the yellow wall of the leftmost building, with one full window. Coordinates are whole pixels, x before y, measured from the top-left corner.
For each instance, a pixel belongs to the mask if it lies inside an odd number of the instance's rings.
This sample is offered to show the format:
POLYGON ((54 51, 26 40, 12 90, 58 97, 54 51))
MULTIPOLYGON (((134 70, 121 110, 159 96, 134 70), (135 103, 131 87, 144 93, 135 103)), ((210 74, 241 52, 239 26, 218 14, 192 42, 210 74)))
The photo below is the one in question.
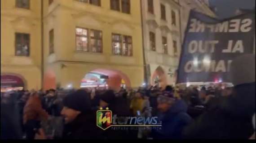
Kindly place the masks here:
POLYGON ((30 9, 16 8, 15 0, 1 0, 1 75, 13 73, 26 80, 27 89, 41 88, 40 0, 30 9), (30 56, 15 56, 15 33, 30 34, 30 56))

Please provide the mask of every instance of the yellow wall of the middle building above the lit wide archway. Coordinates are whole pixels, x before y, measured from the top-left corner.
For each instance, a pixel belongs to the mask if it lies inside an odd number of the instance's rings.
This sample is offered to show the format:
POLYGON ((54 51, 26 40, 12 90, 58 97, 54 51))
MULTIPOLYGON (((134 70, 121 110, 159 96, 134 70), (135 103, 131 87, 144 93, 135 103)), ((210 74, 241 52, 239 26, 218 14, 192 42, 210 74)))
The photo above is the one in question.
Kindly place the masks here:
POLYGON ((110 0, 101 1, 101 7, 75 0, 44 3, 44 72, 54 71, 56 82, 62 87, 73 84, 79 88, 85 74, 96 68, 122 71, 130 78, 132 87, 143 82, 140 1, 131 0, 131 14, 110 10, 110 0), (76 51, 76 27, 102 30, 103 53, 76 51), (51 29, 55 52, 49 55, 51 29), (112 55, 112 33, 132 36, 132 57, 112 55))

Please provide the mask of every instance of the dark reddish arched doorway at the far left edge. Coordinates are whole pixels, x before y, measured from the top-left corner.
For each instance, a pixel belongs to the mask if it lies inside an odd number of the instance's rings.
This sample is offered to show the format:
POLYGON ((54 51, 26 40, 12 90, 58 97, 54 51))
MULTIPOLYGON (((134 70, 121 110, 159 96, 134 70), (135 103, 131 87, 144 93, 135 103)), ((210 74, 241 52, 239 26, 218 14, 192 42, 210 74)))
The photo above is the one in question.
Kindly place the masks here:
POLYGON ((1 92, 26 89, 26 80, 18 74, 1 75, 1 92))

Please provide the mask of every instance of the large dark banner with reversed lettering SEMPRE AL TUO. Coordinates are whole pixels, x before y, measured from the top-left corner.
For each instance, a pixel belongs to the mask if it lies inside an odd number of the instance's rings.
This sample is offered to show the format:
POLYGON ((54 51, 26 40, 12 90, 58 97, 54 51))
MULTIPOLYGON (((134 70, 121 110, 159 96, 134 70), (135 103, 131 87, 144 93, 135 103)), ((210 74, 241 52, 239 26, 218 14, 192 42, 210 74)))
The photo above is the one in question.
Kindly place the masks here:
POLYGON ((219 21, 191 11, 177 83, 230 82, 232 60, 252 54, 254 39, 254 12, 219 21))

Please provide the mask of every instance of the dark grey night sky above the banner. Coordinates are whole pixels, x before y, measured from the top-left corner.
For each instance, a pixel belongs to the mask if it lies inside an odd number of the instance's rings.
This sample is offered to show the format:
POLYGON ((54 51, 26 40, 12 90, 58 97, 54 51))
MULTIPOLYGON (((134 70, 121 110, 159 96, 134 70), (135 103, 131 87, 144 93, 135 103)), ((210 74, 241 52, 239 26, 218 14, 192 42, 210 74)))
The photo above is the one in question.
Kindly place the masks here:
POLYGON ((238 8, 253 9, 256 0, 209 0, 210 6, 217 8, 217 16, 219 18, 228 18, 234 16, 234 12, 238 8))

